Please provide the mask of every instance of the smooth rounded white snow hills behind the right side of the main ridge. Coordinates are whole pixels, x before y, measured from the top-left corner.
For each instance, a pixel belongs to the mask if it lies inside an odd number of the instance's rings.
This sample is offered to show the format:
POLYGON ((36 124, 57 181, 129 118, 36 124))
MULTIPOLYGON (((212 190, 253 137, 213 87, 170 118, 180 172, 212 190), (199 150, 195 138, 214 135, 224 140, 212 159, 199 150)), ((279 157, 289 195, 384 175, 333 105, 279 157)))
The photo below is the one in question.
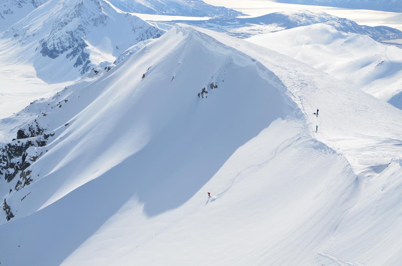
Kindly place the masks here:
POLYGON ((364 35, 316 24, 247 40, 345 80, 381 100, 389 101, 402 91, 402 49, 364 35))

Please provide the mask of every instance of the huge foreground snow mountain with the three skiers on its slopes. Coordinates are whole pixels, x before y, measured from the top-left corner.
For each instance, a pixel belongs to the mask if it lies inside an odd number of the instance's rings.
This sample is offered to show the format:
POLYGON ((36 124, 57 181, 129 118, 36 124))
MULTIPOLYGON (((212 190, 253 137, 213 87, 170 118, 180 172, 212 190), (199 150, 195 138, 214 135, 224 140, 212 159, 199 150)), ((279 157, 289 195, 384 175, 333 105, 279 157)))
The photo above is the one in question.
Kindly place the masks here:
POLYGON ((2 264, 402 261, 401 110, 191 26, 123 58, 2 120, 2 131, 25 117, 54 133, 35 148, 31 184, 2 178, 15 215, 1 215, 2 264))

